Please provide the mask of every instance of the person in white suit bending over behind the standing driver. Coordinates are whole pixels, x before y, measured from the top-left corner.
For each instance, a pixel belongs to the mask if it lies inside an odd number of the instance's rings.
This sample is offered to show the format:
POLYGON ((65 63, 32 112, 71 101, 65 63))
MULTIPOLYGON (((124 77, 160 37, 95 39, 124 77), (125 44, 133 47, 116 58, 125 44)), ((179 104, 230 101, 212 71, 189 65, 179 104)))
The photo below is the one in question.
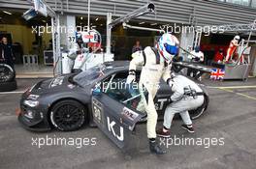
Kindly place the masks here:
POLYGON ((157 135, 161 137, 170 137, 170 128, 176 113, 179 113, 183 120, 184 124, 181 127, 194 132, 188 110, 196 109, 204 103, 204 93, 195 82, 182 75, 172 77, 169 85, 174 94, 165 110, 163 127, 157 130, 157 135))

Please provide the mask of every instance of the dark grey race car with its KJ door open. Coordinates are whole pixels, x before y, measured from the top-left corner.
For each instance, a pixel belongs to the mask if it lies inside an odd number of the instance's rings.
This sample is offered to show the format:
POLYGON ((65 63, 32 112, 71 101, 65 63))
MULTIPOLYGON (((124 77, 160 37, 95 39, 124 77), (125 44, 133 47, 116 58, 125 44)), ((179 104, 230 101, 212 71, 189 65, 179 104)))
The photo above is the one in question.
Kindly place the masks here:
MULTIPOLYGON (((38 131, 54 127, 76 130, 93 121, 121 147, 124 130, 132 131, 146 119, 146 114, 138 111, 141 95, 136 90, 137 83, 133 88, 125 84, 128 68, 128 61, 116 61, 43 80, 22 95, 18 121, 23 127, 38 131)), ((140 69, 137 74, 139 79, 140 69)), ((169 86, 161 81, 155 98, 160 115, 171 95, 169 86)), ((200 117, 207 107, 205 93, 204 104, 190 111, 192 119, 200 117)))

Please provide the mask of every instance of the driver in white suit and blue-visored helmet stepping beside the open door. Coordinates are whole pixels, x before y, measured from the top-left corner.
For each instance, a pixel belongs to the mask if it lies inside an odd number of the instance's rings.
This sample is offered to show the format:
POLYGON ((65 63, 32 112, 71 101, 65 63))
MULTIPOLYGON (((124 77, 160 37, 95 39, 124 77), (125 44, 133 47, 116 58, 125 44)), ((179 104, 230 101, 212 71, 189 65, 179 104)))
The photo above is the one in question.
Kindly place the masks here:
MULTIPOLYGON (((132 54, 127 83, 131 84, 136 80, 136 68, 143 66, 139 89, 142 94, 141 102, 144 102, 144 109, 147 113, 147 137, 149 139, 149 150, 156 155, 165 153, 156 143, 157 112, 154 105, 154 97, 159 88, 161 77, 169 83, 171 80, 171 62, 178 51, 178 40, 171 34, 164 34, 155 47, 147 46, 143 51, 132 54)), ((140 104, 140 103, 139 103, 140 104)))

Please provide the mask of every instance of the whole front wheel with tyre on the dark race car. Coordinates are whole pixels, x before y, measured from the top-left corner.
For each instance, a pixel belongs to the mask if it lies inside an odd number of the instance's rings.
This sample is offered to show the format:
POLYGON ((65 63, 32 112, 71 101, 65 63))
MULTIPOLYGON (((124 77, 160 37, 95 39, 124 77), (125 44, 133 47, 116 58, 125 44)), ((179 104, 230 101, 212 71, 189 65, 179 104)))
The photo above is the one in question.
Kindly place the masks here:
POLYGON ((87 116, 85 110, 85 107, 76 100, 61 100, 51 108, 50 122, 62 131, 77 130, 85 122, 87 116))

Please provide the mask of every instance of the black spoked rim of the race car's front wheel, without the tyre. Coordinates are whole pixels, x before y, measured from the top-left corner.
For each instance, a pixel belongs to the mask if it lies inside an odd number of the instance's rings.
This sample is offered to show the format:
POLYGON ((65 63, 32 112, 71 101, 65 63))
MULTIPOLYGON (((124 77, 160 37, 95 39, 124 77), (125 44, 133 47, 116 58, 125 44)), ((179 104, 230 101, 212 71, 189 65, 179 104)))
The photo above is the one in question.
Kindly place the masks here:
POLYGON ((83 111, 75 105, 62 105, 57 108, 54 116, 54 123, 62 129, 71 129, 82 125, 84 120, 83 111))

